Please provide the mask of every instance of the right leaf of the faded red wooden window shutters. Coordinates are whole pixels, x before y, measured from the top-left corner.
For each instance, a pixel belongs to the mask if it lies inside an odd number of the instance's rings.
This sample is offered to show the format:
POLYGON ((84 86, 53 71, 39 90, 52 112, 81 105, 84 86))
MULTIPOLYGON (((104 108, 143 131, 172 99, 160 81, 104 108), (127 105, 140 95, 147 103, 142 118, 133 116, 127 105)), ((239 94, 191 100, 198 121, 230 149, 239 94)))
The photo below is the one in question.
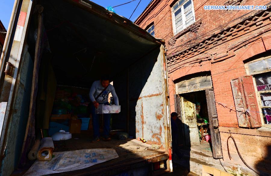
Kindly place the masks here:
POLYGON ((262 123, 253 85, 253 78, 252 76, 243 76, 242 82, 245 93, 246 105, 247 109, 249 110, 249 113, 246 114, 246 116, 248 117, 252 128, 261 127, 262 123))

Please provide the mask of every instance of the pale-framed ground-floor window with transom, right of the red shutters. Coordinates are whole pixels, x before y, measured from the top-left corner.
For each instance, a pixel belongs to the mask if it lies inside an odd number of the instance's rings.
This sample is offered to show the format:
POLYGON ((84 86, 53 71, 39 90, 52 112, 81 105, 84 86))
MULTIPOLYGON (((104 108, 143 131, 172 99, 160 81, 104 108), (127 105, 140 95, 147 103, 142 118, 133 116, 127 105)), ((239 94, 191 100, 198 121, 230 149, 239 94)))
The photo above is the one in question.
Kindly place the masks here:
POLYGON ((253 75, 256 94, 264 124, 271 125, 271 57, 245 64, 247 75, 253 75))

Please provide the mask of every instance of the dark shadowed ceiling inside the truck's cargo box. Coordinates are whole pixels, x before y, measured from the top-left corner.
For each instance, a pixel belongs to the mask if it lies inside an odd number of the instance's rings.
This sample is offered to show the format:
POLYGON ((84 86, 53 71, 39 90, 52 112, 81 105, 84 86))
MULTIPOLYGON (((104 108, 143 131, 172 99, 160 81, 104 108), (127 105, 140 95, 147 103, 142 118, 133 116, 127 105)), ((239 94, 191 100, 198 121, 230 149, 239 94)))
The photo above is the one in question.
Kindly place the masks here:
POLYGON ((119 26, 117 21, 103 19, 67 3, 67 0, 46 0, 43 7, 44 26, 58 84, 90 87, 102 74, 109 74, 114 79, 115 75, 160 46, 119 26))

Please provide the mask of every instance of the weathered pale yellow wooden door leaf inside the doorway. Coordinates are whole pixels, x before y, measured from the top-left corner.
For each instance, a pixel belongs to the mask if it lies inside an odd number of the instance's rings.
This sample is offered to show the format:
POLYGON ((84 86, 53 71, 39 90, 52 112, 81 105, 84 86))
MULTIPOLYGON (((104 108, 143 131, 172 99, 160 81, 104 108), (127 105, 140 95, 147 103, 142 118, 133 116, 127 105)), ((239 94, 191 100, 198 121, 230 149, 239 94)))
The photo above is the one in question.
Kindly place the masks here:
POLYGON ((196 117, 195 96, 193 94, 183 94, 181 96, 181 104, 185 144, 187 146, 200 145, 196 117))

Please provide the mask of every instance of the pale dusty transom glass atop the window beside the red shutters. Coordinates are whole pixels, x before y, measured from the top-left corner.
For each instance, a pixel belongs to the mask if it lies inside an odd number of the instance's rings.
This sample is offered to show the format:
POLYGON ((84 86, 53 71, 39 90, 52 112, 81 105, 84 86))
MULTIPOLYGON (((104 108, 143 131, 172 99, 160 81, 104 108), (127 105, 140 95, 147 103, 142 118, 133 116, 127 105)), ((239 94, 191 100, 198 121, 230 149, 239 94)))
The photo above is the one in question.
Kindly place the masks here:
POLYGON ((249 69, 249 74, 271 69, 271 58, 249 63, 248 69, 249 69))

